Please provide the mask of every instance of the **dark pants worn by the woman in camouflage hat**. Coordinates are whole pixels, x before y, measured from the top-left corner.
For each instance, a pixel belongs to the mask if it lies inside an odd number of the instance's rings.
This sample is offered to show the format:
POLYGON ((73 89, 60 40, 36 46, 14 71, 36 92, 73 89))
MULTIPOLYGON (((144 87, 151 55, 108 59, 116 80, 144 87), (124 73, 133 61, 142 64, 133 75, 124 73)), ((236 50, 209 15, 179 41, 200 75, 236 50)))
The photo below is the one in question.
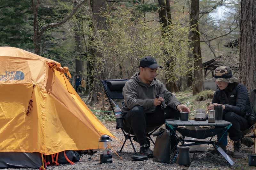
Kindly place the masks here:
MULTIPOLYGON (((228 112, 223 116, 223 120, 231 122, 232 126, 228 130, 229 132, 229 138, 233 141, 240 140, 243 135, 242 131, 250 128, 249 122, 244 117, 234 113, 234 112, 228 112)), ((221 136, 218 136, 218 139, 221 136)), ((227 136, 224 136, 224 138, 227 138, 227 136)), ((222 140, 221 145, 227 145, 227 142, 224 142, 222 140)))

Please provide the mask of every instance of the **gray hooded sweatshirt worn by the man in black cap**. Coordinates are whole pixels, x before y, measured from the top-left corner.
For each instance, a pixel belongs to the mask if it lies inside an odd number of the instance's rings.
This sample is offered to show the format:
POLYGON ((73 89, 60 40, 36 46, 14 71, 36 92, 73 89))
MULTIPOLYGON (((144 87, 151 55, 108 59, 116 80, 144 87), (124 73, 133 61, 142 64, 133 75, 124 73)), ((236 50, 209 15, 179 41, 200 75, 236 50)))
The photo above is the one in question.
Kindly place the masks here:
POLYGON ((153 113, 156 106, 154 105, 154 99, 156 94, 164 94, 164 100, 167 106, 170 106, 177 110, 177 105, 180 102, 176 97, 169 92, 163 83, 154 79, 150 85, 143 83, 138 77, 140 73, 136 73, 130 80, 128 80, 123 88, 124 107, 123 113, 127 113, 134 106, 144 107, 145 113, 153 113))

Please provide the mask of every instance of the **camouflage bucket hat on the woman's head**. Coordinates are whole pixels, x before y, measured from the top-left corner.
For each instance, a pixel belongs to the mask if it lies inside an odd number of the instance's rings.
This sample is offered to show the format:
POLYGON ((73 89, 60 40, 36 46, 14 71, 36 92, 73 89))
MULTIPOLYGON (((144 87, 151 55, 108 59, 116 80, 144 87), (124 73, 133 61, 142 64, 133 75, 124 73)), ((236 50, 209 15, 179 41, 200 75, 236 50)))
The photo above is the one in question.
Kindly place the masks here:
POLYGON ((220 66, 215 69, 214 73, 215 81, 223 81, 227 83, 237 82, 237 79, 232 76, 232 71, 228 66, 220 66))

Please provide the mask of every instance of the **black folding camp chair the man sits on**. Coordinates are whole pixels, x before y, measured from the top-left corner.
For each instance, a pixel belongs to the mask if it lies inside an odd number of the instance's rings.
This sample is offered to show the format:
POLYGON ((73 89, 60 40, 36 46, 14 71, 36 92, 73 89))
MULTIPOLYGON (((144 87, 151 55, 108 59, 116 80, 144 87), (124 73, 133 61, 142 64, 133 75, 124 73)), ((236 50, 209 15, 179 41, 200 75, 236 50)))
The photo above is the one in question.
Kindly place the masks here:
MULTIPOLYGON (((101 80, 101 83, 104 87, 104 90, 105 90, 105 93, 108 97, 108 101, 109 101, 109 104, 115 114, 115 111, 114 111, 114 107, 113 107, 113 104, 116 105, 116 103, 114 102, 114 100, 122 100, 124 101, 124 97, 123 97, 123 87, 125 85, 125 83, 128 81, 129 79, 113 79, 113 80, 101 80)), ((122 104, 124 105, 124 102, 122 102, 122 104)), ((160 126, 159 126, 160 127, 160 126)), ((150 133, 147 133, 146 136, 151 140, 151 142, 153 144, 154 141, 152 140, 152 138, 150 137, 159 127, 157 127, 156 129, 154 128, 153 131, 151 130, 150 133)), ((121 150, 119 151, 122 152, 123 150, 123 147, 124 147, 124 144, 126 142, 127 139, 130 140, 131 144, 132 144, 132 148, 134 150, 134 153, 136 154, 136 150, 134 148, 134 145, 132 143, 132 137, 135 137, 134 134, 132 134, 132 127, 130 128, 124 128, 124 127, 117 127, 116 129, 121 129, 123 134, 124 134, 124 137, 125 137, 125 140, 124 140, 124 143, 122 145, 122 148, 121 150)))

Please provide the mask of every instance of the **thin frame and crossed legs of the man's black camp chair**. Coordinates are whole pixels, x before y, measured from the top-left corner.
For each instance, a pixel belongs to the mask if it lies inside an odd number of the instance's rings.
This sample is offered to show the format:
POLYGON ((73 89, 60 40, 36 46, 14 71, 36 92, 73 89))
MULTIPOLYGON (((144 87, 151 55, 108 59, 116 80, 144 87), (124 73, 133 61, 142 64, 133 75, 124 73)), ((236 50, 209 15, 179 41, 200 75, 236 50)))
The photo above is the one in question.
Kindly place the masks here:
MULTIPOLYGON (((105 85, 104 85, 104 81, 105 81, 106 85, 108 85, 108 81, 122 81, 122 80, 129 80, 129 79, 112 79, 112 80, 109 79, 109 80, 100 80, 101 83, 102 83, 102 85, 103 85, 104 91, 105 91, 105 93, 106 93, 106 95, 107 95, 109 104, 110 104, 110 106, 111 106, 111 108, 112 108, 112 111, 113 111, 114 115, 115 115, 115 109, 114 109, 113 104, 112 104, 112 101, 113 101, 112 99, 120 99, 120 98, 110 98, 110 96, 109 96, 109 94, 108 94, 108 91, 107 91, 107 89, 106 89, 106 87, 105 87, 105 85)), ((122 99, 124 99, 124 97, 123 97, 122 99)), ((161 126, 162 126, 162 125, 161 125, 161 126)), ((155 143, 154 143, 153 139, 152 139, 150 136, 151 136, 158 128, 160 128, 161 126, 157 127, 156 129, 154 129, 154 130, 151 131, 150 133, 147 133, 147 134, 146 134, 146 136, 151 140, 151 142, 152 142, 154 145, 155 145, 155 143)), ((132 137, 135 137, 135 135, 131 135, 131 129, 132 129, 132 127, 130 127, 128 133, 125 133, 124 128, 120 128, 120 129, 122 130, 122 132, 123 132, 123 134, 124 134, 125 140, 124 140, 124 143, 123 143, 123 145, 122 145, 122 147, 121 147, 119 153, 122 152, 122 150, 123 150, 123 148, 124 148, 124 144, 126 143, 127 139, 129 139, 130 142, 131 142, 131 144, 132 144, 132 148, 133 148, 134 153, 137 154, 137 152, 136 152, 136 150, 135 150, 135 148, 134 148, 134 145, 133 145, 133 143, 132 143, 132 137)))

